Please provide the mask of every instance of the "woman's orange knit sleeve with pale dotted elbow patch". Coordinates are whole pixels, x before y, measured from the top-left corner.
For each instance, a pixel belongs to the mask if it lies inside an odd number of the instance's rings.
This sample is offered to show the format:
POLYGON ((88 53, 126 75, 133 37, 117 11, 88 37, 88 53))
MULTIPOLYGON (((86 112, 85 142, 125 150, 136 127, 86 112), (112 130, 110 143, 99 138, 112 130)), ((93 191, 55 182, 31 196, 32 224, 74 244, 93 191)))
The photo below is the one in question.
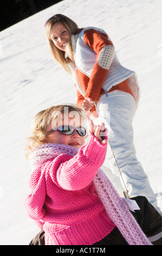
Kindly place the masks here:
POLYGON ((96 62, 90 76, 85 97, 98 101, 103 82, 114 57, 114 47, 106 34, 101 34, 95 29, 85 31, 84 40, 96 53, 96 62))

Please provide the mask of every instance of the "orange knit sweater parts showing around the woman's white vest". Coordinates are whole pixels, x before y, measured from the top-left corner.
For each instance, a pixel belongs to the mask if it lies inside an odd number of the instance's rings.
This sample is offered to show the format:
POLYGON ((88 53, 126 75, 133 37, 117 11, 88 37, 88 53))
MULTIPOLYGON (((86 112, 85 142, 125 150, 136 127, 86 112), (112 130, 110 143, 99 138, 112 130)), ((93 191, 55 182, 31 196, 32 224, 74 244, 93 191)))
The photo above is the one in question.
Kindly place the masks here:
MULTIPOLYGON (((108 69, 102 68, 102 66, 100 66, 98 63, 99 54, 103 47, 108 45, 113 46, 113 43, 108 39, 106 34, 102 34, 95 29, 88 29, 85 31, 84 40, 86 44, 92 48, 94 52, 96 52, 96 62, 94 64, 90 78, 78 69, 76 69, 76 75, 79 83, 85 91, 85 97, 89 97, 90 99, 93 99, 97 102, 100 95, 105 93, 102 89, 102 85, 108 73, 108 69)), ((112 87, 109 92, 113 92, 113 90, 122 90, 133 95, 133 92, 131 88, 129 88, 126 80, 116 84, 116 86, 112 87)), ((85 100, 85 97, 83 97, 77 90, 77 105, 81 106, 85 100)))

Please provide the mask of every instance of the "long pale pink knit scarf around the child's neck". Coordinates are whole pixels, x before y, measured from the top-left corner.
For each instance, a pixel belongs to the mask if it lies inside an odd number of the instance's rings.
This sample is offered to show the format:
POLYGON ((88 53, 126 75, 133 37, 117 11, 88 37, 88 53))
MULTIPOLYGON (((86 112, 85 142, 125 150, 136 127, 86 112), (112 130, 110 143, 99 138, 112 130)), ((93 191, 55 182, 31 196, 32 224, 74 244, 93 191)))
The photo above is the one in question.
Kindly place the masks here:
MULTIPOLYGON (((77 152, 78 150, 76 148, 69 145, 43 144, 32 151, 29 160, 31 166, 35 169, 37 165, 49 159, 54 159, 60 154, 75 156, 77 152)), ((111 181, 109 181, 101 169, 98 170, 93 182, 109 218, 111 218, 116 227, 118 227, 128 244, 152 245, 118 192, 116 192, 111 181)))

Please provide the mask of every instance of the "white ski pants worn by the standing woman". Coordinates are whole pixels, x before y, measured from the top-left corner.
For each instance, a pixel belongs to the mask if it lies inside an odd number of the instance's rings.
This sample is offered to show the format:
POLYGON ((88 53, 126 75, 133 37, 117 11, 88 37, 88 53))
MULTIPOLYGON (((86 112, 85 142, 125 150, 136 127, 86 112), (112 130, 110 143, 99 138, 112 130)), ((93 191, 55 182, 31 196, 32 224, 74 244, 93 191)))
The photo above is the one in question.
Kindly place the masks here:
MULTIPOLYGON (((134 97, 131 94, 115 90, 114 92, 108 93, 107 96, 106 94, 101 95, 97 107, 101 120, 108 129, 108 139, 129 196, 145 196, 159 210, 148 177, 137 160, 135 153, 132 127, 132 120, 135 113, 134 97)), ((108 166, 108 164, 112 173, 120 177, 121 175, 118 167, 116 167, 110 147, 107 149, 106 160, 103 166, 108 166)), ((125 189, 123 183, 122 186, 125 189)))

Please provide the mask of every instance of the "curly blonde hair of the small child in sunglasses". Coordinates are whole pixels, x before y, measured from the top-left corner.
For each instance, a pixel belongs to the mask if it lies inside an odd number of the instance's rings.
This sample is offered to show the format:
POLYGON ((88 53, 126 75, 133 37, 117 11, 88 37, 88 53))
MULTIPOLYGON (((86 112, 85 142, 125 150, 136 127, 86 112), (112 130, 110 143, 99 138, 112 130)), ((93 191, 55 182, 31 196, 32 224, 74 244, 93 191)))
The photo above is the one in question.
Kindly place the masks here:
POLYGON ((34 148, 37 148, 39 145, 48 143, 46 129, 51 120, 59 117, 59 113, 74 113, 73 111, 76 111, 80 114, 82 119, 85 119, 85 113, 76 105, 57 105, 38 112, 35 115, 33 123, 31 124, 30 137, 27 138, 28 143, 24 149, 25 158, 28 159, 30 151, 32 151, 34 148))

